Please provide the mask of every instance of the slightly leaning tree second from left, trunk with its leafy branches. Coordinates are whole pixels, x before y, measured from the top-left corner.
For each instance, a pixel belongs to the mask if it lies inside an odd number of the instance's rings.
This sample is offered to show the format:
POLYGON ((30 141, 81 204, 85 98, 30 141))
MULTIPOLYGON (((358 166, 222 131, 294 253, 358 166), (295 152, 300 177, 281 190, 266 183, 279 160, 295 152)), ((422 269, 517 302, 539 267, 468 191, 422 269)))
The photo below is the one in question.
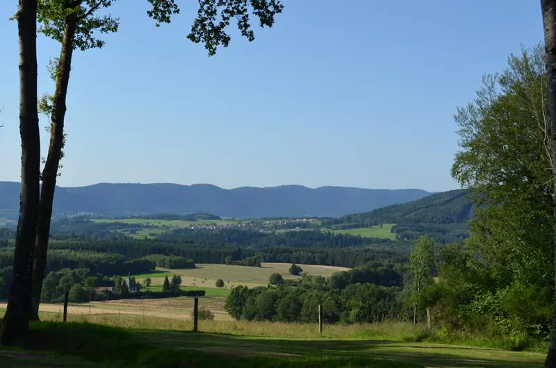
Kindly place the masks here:
POLYGON ((93 32, 116 32, 117 19, 110 15, 95 16, 95 12, 111 5, 111 0, 44 0, 38 7, 39 31, 61 44, 60 56, 51 63, 51 78, 55 81, 54 96, 44 95, 40 112, 49 116, 50 142, 42 169, 39 217, 33 262, 33 308, 31 318, 38 319, 40 293, 47 263, 48 240, 56 178, 65 144, 64 123, 67 87, 70 83, 73 51, 100 48, 102 40, 93 32))

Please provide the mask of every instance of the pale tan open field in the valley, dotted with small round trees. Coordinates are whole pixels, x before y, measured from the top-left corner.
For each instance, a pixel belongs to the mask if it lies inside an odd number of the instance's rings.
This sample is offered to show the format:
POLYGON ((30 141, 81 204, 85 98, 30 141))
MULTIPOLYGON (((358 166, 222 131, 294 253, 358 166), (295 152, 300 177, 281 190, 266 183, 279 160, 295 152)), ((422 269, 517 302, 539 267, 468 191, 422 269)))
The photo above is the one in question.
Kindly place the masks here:
MULTIPOLYGON (((261 267, 232 266, 232 265, 213 265, 199 264, 193 269, 165 269, 157 268, 158 273, 136 275, 135 278, 139 282, 143 282, 145 278, 150 278, 153 286, 162 285, 165 276, 169 278, 173 274, 181 276, 183 286, 195 287, 214 287, 218 278, 224 281, 224 288, 229 289, 238 285, 247 285, 248 287, 268 285, 268 278, 271 274, 281 274, 284 278, 300 278, 301 276, 293 276, 289 272, 290 263, 262 263, 261 267)), ((329 277, 334 272, 347 270, 344 267, 332 266, 316 266, 316 265, 300 265, 305 274, 312 276, 329 277)))

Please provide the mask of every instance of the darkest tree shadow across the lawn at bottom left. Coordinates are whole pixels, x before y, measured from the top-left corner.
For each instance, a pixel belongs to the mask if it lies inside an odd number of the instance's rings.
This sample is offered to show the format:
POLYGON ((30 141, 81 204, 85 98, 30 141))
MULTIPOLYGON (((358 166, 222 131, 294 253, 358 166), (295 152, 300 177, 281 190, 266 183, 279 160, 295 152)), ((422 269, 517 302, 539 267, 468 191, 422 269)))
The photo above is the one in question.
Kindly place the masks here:
MULTIPOLYGON (((193 334, 193 337, 201 334, 193 334)), ((218 336, 218 335, 217 335, 218 336)), ((374 360, 363 356, 287 356, 283 354, 215 353, 202 349, 183 349, 164 344, 151 344, 145 336, 122 328, 84 323, 35 322, 28 333, 24 353, 37 357, 33 367, 63 367, 41 359, 40 353, 61 356, 63 359, 80 359, 95 363, 95 367, 181 368, 181 367, 227 367, 227 368, 332 368, 375 367, 410 368, 423 367, 411 363, 374 360), (40 353, 34 353, 38 351, 40 353), (40 364, 39 364, 40 363, 40 364)), ((8 351, 9 352, 9 351, 8 351)), ((0 351, 0 358, 6 351, 0 351)), ((43 355, 44 357, 44 355, 43 355)), ((8 357, 9 359, 9 357, 8 357)), ((3 367, 3 366, 2 366, 3 367)), ((75 365, 74 367, 85 367, 75 365)))

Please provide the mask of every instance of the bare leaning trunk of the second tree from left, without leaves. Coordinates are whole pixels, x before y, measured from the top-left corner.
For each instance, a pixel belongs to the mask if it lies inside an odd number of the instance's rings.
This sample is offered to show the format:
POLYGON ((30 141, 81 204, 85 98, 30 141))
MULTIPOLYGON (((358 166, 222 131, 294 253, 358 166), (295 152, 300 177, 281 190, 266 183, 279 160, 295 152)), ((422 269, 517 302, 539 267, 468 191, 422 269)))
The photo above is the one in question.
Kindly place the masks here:
POLYGON ((33 262, 32 319, 38 319, 40 293, 42 290, 42 281, 44 280, 44 271, 47 265, 48 240, 50 235, 52 206, 54 203, 54 190, 56 190, 58 167, 63 156, 64 119, 66 110, 65 100, 67 96, 67 85, 70 82, 70 71, 72 69, 72 54, 74 51, 76 22, 77 19, 75 15, 70 15, 70 17, 66 19, 64 38, 60 50, 60 58, 58 59, 56 89, 54 90, 54 101, 52 105, 48 156, 44 169, 42 170, 42 188, 40 192, 37 238, 35 240, 35 260, 33 262))

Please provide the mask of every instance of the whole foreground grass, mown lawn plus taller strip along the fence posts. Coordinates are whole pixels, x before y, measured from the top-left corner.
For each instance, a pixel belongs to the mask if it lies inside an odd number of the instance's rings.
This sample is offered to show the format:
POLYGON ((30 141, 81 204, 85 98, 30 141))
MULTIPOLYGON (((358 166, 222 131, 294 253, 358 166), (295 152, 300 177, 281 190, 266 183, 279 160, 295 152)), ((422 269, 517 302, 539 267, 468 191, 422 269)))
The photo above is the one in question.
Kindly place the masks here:
POLYGON ((190 321, 170 318, 72 316, 63 324, 48 316, 42 313, 43 321, 32 325, 26 350, 0 350, 2 367, 527 368, 541 367, 544 358, 410 341, 421 331, 410 324, 325 326, 318 335, 313 325, 199 321, 203 332, 191 333, 190 321))

